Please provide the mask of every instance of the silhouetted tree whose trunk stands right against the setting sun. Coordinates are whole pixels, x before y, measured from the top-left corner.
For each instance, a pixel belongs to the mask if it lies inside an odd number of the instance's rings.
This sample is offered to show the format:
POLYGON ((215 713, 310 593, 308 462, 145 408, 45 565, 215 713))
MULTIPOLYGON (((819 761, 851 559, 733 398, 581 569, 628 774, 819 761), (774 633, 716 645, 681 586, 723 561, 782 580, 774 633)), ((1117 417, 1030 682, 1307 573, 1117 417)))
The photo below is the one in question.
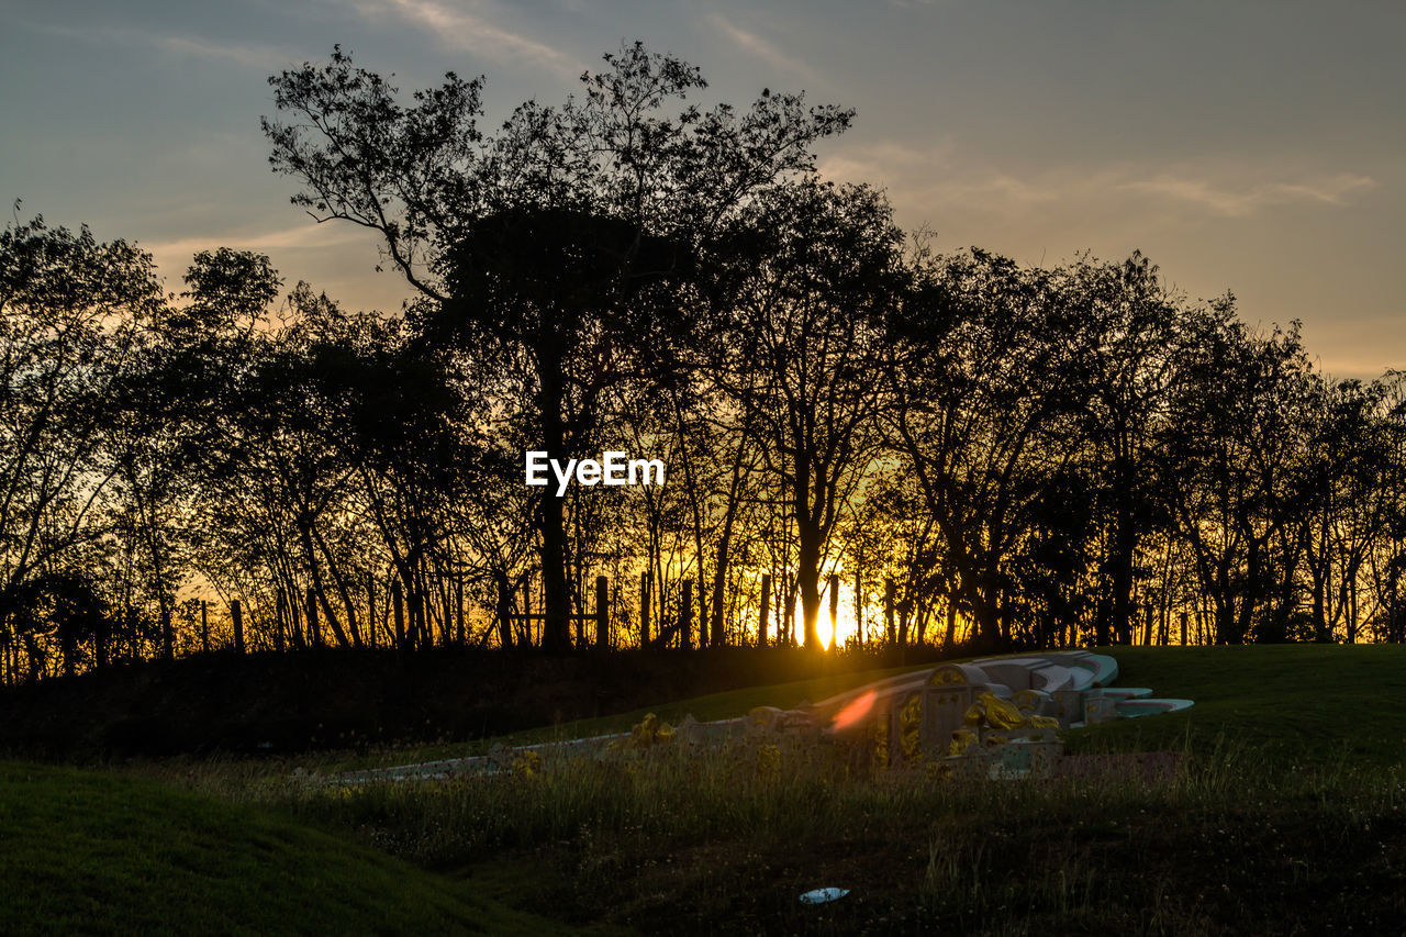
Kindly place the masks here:
POLYGON ((741 236, 723 380, 755 414, 768 474, 794 519, 803 640, 814 649, 825 550, 882 445, 882 349, 905 284, 903 235, 882 194, 803 180, 761 200, 741 236))

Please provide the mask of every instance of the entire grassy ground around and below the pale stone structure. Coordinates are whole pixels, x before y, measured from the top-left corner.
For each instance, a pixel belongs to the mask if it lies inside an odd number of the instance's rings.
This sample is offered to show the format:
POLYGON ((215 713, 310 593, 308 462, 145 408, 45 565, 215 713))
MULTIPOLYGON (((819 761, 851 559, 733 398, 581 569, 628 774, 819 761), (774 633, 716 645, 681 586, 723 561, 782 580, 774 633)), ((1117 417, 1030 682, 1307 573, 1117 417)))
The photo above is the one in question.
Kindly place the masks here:
MULTIPOLYGON (((60 930, 214 922, 260 933, 541 933, 536 914, 596 933, 1399 930, 1406 647, 1111 653, 1119 685, 1197 705, 1069 733, 1070 748, 1181 751, 1175 777, 876 777, 839 753, 785 746, 702 757, 664 746, 364 788, 290 781, 291 763, 163 761, 121 774, 6 765, 0 874, 21 885, 0 931, 38 920, 60 930), (797 900, 830 885, 851 893, 797 900)), ((741 715, 879 675, 658 710, 741 715)))

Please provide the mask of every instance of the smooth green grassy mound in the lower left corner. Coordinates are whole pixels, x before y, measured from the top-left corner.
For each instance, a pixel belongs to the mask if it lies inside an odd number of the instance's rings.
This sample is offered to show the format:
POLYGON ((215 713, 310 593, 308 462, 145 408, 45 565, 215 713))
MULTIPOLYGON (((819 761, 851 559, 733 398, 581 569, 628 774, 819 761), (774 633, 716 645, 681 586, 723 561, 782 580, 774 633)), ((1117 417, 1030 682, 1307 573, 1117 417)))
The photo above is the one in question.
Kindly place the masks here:
POLYGON ((0 933, 550 933, 463 882, 278 812, 0 763, 0 933))

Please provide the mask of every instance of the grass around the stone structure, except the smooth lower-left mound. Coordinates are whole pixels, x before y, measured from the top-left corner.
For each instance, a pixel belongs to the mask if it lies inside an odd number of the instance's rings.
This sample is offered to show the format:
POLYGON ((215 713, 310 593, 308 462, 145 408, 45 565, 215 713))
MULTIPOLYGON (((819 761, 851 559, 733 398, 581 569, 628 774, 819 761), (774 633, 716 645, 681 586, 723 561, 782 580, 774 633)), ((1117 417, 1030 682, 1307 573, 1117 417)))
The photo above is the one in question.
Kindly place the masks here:
MULTIPOLYGON (((796 746, 578 760, 537 777, 266 792, 312 823, 471 872, 520 907, 647 933, 1292 934, 1406 919, 1402 647, 1112 649, 1119 685, 1195 706, 1067 733, 1175 750, 1163 781, 875 775, 796 746), (804 907, 807 889, 851 895, 804 907)), ((790 706, 884 674, 652 708, 790 706)), ((644 710, 640 710, 643 713, 644 710)), ((558 726, 626 727, 640 713, 558 726)))

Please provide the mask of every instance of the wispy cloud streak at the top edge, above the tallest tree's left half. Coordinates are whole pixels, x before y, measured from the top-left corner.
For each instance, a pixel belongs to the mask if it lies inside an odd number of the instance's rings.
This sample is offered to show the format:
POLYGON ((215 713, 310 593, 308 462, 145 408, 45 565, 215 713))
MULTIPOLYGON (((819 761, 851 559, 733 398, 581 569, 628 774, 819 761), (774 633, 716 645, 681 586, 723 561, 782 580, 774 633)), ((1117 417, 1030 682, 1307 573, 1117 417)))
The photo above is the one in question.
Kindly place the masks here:
POLYGON ((498 62, 526 59, 558 75, 575 76, 579 66, 569 55, 498 25, 496 15, 479 3, 450 0, 352 0, 367 18, 394 17, 434 34, 449 48, 463 49, 498 62))

